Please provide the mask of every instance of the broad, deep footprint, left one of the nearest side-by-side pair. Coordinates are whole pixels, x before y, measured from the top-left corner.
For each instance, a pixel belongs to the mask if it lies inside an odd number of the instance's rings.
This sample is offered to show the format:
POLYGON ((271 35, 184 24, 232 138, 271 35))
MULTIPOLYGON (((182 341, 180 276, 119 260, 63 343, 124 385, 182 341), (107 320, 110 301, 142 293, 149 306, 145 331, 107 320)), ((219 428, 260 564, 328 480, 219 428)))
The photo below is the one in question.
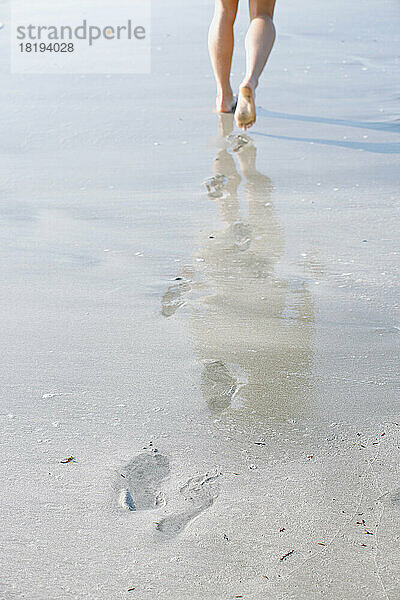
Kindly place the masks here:
POLYGON ((161 484, 170 473, 166 456, 156 450, 143 452, 119 472, 118 505, 125 510, 149 510, 165 505, 161 484))

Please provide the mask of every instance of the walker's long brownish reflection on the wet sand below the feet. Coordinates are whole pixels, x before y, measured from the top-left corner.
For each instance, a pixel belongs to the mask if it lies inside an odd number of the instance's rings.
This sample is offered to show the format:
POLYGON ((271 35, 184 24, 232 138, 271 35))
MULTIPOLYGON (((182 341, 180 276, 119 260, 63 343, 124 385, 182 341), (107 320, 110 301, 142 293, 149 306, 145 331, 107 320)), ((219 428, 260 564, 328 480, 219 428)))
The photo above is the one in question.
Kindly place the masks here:
POLYGON ((188 290, 200 289, 189 320, 213 414, 296 417, 310 410, 312 297, 305 278, 289 281, 276 272, 285 242, 273 186, 256 168, 250 138, 231 131, 231 115, 221 116, 221 147, 206 182, 222 227, 204 235, 195 270, 171 286, 162 312, 175 312, 168 308, 169 296, 181 305, 188 290))

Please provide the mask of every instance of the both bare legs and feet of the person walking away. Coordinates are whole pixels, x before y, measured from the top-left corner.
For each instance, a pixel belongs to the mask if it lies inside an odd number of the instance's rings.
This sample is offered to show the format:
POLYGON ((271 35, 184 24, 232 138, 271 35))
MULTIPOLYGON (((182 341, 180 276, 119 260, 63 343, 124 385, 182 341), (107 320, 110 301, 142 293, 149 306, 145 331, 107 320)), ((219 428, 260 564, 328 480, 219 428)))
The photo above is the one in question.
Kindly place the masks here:
POLYGON ((256 121, 255 90, 275 41, 272 21, 275 0, 249 0, 250 25, 246 34, 246 74, 236 103, 230 83, 234 47, 233 25, 239 0, 215 0, 208 47, 217 84, 217 112, 235 112, 238 127, 248 129, 256 121))

